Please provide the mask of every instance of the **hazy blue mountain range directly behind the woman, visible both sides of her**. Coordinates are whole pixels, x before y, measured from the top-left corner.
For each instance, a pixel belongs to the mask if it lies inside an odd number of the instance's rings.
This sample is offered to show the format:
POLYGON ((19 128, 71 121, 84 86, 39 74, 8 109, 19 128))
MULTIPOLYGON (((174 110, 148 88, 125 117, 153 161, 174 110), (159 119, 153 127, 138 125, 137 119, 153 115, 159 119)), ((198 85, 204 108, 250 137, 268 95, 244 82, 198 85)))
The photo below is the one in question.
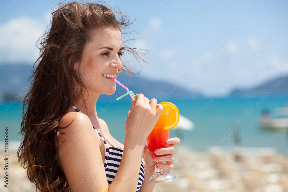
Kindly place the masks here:
MULTIPOLYGON (((32 74, 31 72, 32 65, 0 65, 0 101, 17 99, 18 95, 25 94, 25 86, 32 74)), ((117 79, 129 90, 133 91, 134 94, 143 93, 148 98, 156 98, 158 100, 202 98, 202 95, 198 92, 186 90, 179 87, 179 85, 155 82, 139 75, 128 76, 122 72, 117 79)), ((113 95, 101 95, 99 99, 109 100, 124 93, 126 93, 126 90, 120 85, 116 85, 116 92, 113 95)), ((129 96, 126 97, 129 98, 129 96)))

